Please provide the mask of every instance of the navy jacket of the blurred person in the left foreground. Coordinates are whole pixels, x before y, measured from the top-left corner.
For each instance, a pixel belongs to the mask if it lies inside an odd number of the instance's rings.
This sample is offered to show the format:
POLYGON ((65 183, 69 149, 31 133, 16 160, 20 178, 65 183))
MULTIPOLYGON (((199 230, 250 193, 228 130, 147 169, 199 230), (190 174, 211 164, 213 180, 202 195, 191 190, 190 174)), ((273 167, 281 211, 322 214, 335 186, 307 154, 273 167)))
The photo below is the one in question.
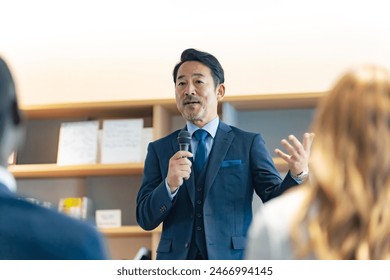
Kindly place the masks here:
POLYGON ((0 183, 0 259, 107 259, 100 234, 89 224, 32 204, 0 183))

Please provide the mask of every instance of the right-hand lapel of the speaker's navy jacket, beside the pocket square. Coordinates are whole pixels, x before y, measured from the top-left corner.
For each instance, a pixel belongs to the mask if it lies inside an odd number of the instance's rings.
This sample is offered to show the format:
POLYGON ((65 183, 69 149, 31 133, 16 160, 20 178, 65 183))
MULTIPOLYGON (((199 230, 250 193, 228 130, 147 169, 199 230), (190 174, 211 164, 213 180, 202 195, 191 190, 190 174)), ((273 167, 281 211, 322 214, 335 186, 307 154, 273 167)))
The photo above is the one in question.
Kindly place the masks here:
POLYGON ((209 162, 206 170, 206 181, 205 181, 205 197, 212 186, 215 177, 219 171, 222 161, 224 160, 227 151, 234 139, 234 134, 230 133, 231 128, 222 121, 219 123, 217 134, 215 135, 213 148, 209 155, 209 162))

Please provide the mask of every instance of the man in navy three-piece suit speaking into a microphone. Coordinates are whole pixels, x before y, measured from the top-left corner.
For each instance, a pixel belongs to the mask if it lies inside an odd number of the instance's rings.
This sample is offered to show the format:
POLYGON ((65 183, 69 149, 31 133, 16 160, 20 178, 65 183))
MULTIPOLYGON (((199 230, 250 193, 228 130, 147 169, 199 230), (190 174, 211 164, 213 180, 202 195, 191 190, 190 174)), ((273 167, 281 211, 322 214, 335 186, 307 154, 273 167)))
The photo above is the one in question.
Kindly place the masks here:
POLYGON ((213 55, 185 50, 173 80, 192 153, 179 150, 179 131, 149 144, 137 221, 145 230, 163 223, 157 259, 242 259, 254 191, 266 202, 304 181, 314 135, 306 133, 302 144, 292 135, 282 140, 289 154, 276 153, 290 168, 282 180, 260 134, 219 119, 224 71, 213 55), (202 168, 194 168, 198 148, 205 148, 202 168))

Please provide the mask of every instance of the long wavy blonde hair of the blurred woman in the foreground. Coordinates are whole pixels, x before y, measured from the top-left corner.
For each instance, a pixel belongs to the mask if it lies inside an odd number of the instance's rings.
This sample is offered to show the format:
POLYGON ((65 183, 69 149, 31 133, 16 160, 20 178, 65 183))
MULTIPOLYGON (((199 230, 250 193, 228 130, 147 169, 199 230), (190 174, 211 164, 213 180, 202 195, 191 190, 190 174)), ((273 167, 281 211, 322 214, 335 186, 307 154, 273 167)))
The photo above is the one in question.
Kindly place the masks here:
POLYGON ((307 208, 315 201, 318 212, 300 217, 309 226, 306 253, 389 258, 389 71, 366 65, 346 72, 321 100, 313 132, 307 208))

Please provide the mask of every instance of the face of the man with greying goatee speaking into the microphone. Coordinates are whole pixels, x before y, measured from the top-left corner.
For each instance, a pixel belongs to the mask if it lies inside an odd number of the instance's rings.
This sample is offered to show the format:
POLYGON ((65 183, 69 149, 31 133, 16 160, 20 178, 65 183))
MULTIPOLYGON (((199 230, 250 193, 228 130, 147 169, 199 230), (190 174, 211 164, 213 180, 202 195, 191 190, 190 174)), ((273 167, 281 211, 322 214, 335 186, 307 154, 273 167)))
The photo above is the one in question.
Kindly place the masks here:
POLYGON ((225 87, 215 87, 210 68, 198 61, 187 61, 177 71, 175 93, 183 118, 203 127, 217 116, 225 87))

